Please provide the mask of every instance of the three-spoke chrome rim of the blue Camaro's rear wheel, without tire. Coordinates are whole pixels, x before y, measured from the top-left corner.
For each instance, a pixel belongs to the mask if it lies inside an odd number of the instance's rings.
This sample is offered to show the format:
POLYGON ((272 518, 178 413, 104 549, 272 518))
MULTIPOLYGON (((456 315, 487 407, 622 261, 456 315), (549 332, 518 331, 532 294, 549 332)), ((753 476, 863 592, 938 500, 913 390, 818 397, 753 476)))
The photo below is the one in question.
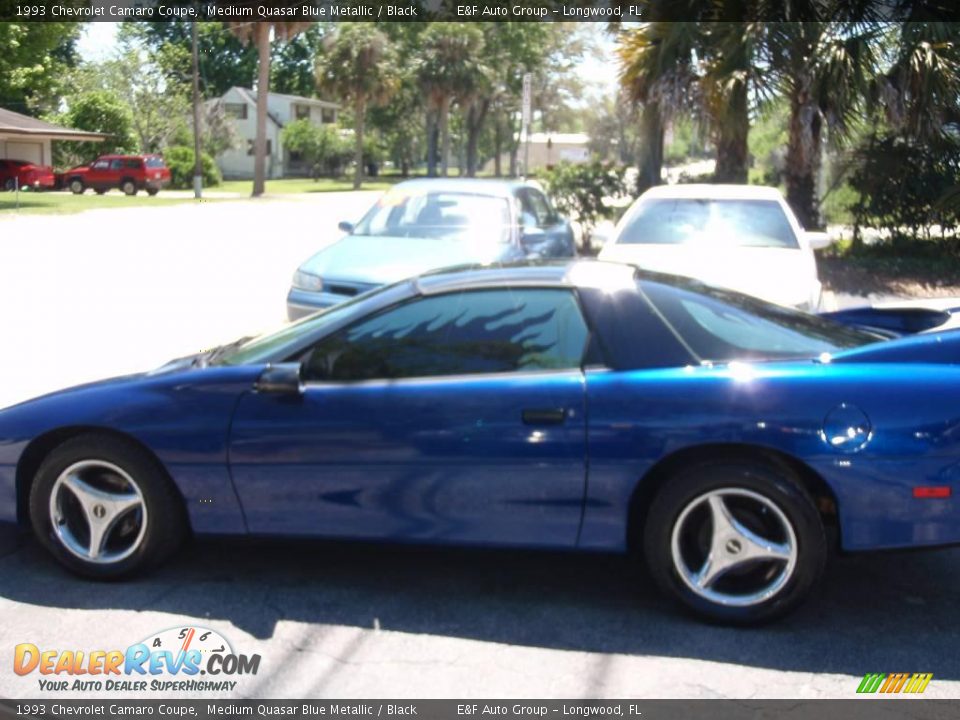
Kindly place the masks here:
POLYGON ((776 595, 797 565, 797 536, 769 498, 742 488, 710 490, 673 525, 674 568, 694 593, 719 605, 748 607, 776 595))

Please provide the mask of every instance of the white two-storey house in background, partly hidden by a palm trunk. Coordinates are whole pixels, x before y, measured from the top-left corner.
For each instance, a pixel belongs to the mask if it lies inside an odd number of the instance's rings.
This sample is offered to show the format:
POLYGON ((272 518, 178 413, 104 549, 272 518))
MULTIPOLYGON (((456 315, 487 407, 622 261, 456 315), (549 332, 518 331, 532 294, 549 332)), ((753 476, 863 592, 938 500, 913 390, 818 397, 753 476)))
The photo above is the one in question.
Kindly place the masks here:
MULTIPOLYGON (((223 97, 213 102, 222 103, 226 114, 233 118, 239 147, 227 150, 217 157, 223 177, 246 180, 253 177, 253 142, 257 136, 257 93, 255 90, 232 87, 223 97)), ((269 93, 267 95, 267 177, 281 178, 307 175, 309 168, 297 162, 296 156, 283 147, 284 126, 294 120, 308 119, 316 125, 337 122, 336 103, 299 95, 269 93)))

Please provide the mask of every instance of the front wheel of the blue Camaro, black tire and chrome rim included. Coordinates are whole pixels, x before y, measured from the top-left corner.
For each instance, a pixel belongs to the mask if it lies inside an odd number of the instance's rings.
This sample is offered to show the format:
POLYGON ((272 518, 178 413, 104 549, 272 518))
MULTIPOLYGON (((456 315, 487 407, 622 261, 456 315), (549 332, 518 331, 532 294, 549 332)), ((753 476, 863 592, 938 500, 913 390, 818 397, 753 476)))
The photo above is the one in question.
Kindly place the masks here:
POLYGON ((54 449, 30 491, 39 541, 75 573, 130 575, 157 564, 186 535, 183 505, 145 451, 113 437, 82 435, 54 449))

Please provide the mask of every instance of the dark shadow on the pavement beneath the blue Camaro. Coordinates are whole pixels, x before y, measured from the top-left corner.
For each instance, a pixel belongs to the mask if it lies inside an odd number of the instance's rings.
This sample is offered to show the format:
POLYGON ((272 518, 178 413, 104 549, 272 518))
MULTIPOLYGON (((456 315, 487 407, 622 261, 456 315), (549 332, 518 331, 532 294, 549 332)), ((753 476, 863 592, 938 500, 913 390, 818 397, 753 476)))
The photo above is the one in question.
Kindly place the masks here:
POLYGON ((61 570, 32 538, 0 533, 0 596, 213 618, 258 638, 280 620, 378 624, 562 650, 960 679, 960 550, 837 558, 800 611, 759 629, 689 618, 617 556, 316 541, 198 540, 149 576, 94 583, 61 570))

